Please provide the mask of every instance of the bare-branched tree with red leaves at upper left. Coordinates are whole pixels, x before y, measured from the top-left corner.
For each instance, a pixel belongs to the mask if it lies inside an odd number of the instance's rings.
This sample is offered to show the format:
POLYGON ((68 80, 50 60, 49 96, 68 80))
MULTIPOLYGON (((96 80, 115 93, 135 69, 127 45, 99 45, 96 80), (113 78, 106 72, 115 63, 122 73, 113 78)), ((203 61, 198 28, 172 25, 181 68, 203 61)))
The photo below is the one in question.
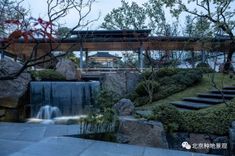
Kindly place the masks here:
MULTIPOLYGON (((0 77, 0 80, 12 80, 16 79, 24 70, 29 67, 56 61, 58 57, 66 56, 71 52, 74 45, 71 45, 64 53, 59 55, 53 55, 52 52, 61 47, 61 43, 56 40, 56 30, 60 26, 59 21, 67 15, 71 10, 77 12, 77 23, 71 28, 71 30, 81 29, 88 26, 90 23, 97 19, 87 20, 86 17, 91 12, 92 4, 95 0, 47 0, 47 19, 33 18, 23 16, 22 19, 7 19, 4 22, 4 26, 13 26, 14 30, 8 33, 7 37, 0 38, 1 46, 0 51, 4 51, 11 44, 18 42, 20 38, 24 39, 24 42, 33 42, 34 46, 32 51, 29 51, 29 57, 23 62, 23 66, 15 73, 6 74, 0 77), (48 47, 44 50, 44 53, 37 55, 40 49, 40 41, 44 40, 48 43, 48 47), (53 46, 54 43, 54 46, 53 46)), ((17 8, 16 8, 17 9, 17 8)), ((20 12, 21 15, 23 15, 20 12)), ((61 42, 66 40, 69 35, 62 35, 61 42)), ((42 48, 42 46, 41 46, 42 48)), ((18 49, 20 50, 20 49, 18 49)))

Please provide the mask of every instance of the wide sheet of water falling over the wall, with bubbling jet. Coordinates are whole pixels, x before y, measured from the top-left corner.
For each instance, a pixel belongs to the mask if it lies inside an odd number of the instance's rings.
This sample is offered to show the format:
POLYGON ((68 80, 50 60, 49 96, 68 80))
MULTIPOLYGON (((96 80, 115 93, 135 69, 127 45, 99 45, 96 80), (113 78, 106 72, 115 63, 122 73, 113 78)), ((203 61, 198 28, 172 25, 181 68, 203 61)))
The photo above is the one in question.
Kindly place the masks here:
POLYGON ((31 117, 50 118, 83 114, 94 104, 100 83, 93 82, 31 82, 31 117), (41 113, 40 113, 41 112, 41 113))

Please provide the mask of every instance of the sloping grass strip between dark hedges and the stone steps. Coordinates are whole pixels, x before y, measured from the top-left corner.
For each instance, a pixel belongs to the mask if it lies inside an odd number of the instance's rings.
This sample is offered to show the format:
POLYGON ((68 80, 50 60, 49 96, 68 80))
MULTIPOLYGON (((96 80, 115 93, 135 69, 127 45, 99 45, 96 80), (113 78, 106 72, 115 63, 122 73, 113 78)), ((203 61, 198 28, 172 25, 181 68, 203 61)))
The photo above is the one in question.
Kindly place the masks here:
POLYGON ((148 110, 152 109, 154 106, 158 104, 169 104, 172 101, 180 101, 184 97, 195 97, 198 93, 206 93, 209 90, 215 89, 212 85, 212 78, 214 76, 214 82, 216 83, 217 87, 222 88, 223 86, 232 86, 235 84, 235 78, 229 78, 229 75, 222 74, 222 73, 209 73, 204 74, 202 81, 190 88, 187 88, 186 90, 173 94, 165 99, 155 101, 151 104, 144 105, 142 107, 139 107, 137 109, 139 110, 148 110))

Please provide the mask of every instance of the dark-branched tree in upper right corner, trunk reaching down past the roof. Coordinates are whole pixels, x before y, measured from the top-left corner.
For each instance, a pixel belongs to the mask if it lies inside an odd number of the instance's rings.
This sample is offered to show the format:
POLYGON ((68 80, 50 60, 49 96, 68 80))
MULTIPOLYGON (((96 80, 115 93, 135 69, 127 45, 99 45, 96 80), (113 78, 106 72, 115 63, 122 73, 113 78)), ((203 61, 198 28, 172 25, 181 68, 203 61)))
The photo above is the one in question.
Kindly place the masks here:
POLYGON ((209 21, 213 27, 220 29, 224 34, 228 35, 231 40, 230 49, 228 51, 227 61, 224 70, 228 71, 232 55, 234 53, 234 28, 235 28, 235 12, 234 0, 163 0, 163 4, 171 8, 174 16, 179 16, 182 12, 189 13, 196 17, 209 21))

